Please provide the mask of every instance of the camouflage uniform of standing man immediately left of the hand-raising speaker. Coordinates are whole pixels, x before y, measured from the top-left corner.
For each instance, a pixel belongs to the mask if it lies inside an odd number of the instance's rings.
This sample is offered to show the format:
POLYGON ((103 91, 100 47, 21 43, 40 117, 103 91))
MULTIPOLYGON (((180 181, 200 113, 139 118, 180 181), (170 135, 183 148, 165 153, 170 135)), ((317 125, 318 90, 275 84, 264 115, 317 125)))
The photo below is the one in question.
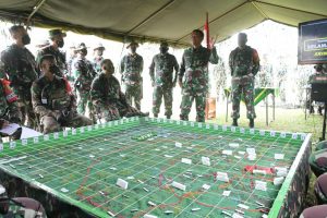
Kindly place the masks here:
POLYGON ((154 84, 153 95, 153 113, 158 116, 161 106, 161 99, 164 95, 165 99, 165 116, 170 118, 172 114, 172 88, 177 83, 179 64, 174 56, 170 53, 158 53, 154 57, 149 66, 149 74, 152 83, 154 84), (156 69, 156 73, 155 73, 156 69), (173 69, 175 70, 175 76, 173 77, 173 69))

